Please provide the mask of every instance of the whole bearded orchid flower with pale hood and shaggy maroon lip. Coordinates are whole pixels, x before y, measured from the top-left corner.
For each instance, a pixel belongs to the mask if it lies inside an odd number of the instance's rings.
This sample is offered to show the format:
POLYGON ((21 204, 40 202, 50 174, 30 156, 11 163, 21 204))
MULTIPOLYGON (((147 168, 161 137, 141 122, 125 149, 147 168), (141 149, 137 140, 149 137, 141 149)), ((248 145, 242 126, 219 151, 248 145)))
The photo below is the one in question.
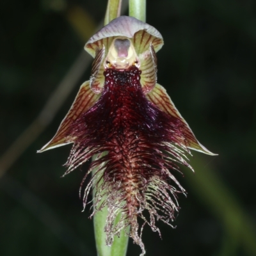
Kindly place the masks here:
POLYGON ((159 232, 156 220, 170 225, 179 210, 176 196, 185 190, 173 172, 179 164, 191 168, 189 149, 213 155, 156 83, 156 52, 162 46, 161 34, 133 17, 118 17, 100 29, 84 47, 95 58, 90 81, 82 84, 56 135, 40 150, 73 143, 65 174, 97 155, 84 177, 96 168, 84 207, 95 188, 92 215, 108 207, 106 244, 130 226, 141 255, 144 225, 159 232))

